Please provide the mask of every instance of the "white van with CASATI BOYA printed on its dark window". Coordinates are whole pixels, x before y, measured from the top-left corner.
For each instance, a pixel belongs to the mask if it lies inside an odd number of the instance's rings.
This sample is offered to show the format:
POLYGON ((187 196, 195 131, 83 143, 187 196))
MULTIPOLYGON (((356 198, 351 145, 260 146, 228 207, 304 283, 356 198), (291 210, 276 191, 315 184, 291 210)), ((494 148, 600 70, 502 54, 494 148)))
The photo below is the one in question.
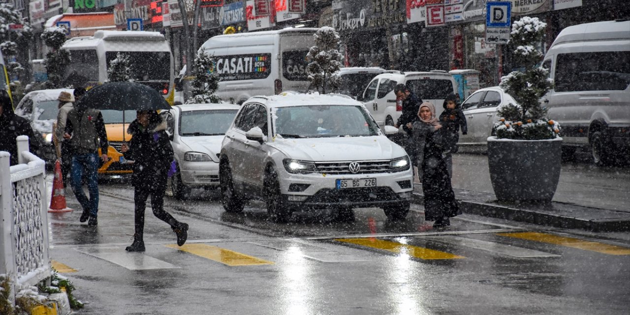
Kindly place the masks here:
POLYGON ((286 28, 218 35, 200 51, 214 56, 214 69, 221 77, 217 95, 241 104, 254 95, 306 91, 306 54, 315 45, 318 28, 286 28))

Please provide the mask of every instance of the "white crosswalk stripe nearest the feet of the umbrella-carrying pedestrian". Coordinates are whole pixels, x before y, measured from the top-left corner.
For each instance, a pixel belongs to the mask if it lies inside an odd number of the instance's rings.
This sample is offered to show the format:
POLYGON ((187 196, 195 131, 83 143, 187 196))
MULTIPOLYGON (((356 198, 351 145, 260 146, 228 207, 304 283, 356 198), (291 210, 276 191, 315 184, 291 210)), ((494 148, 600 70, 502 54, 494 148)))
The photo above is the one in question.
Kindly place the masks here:
POLYGON ((144 253, 129 253, 122 247, 94 247, 77 249, 81 253, 101 258, 129 270, 180 268, 144 253))

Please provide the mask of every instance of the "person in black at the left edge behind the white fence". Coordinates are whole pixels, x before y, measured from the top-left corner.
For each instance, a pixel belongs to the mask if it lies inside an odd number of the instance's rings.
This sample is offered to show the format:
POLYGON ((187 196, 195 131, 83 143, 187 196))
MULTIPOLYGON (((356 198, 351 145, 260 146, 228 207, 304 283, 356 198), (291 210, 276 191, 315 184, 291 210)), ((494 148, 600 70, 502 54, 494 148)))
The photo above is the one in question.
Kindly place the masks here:
POLYGON ((15 115, 13 112, 13 102, 7 91, 0 91, 0 151, 7 151, 11 154, 9 163, 18 164, 18 135, 28 136, 28 149, 31 153, 38 155, 40 152, 40 142, 35 137, 35 132, 26 118, 15 115))

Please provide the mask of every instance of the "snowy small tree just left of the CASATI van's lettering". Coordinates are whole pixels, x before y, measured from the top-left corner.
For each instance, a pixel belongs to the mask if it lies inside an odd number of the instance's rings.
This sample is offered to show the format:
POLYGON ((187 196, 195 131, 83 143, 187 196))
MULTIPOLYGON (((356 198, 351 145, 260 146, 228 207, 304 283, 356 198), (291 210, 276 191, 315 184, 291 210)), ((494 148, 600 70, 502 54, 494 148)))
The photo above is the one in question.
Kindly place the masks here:
POLYGON ((190 69, 194 77, 192 81, 192 96, 186 104, 221 103, 221 98, 215 94, 219 88, 219 74, 214 70, 212 56, 204 52, 197 52, 193 68, 190 69))

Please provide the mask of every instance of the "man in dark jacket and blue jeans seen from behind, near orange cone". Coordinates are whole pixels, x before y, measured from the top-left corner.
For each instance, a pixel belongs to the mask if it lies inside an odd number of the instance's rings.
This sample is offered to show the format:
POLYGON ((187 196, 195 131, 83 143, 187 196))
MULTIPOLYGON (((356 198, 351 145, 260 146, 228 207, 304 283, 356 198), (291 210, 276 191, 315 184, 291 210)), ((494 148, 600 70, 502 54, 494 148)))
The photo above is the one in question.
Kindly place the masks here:
POLYGON ((98 224, 98 168, 100 160, 109 160, 105 122, 100 110, 86 108, 81 102, 76 103, 68 112, 64 139, 70 140, 72 167, 70 171, 72 192, 77 198, 83 213, 80 222, 88 221, 88 226, 98 224), (101 156, 98 156, 98 149, 101 156), (83 175, 88 181, 89 199, 83 192, 83 175))

